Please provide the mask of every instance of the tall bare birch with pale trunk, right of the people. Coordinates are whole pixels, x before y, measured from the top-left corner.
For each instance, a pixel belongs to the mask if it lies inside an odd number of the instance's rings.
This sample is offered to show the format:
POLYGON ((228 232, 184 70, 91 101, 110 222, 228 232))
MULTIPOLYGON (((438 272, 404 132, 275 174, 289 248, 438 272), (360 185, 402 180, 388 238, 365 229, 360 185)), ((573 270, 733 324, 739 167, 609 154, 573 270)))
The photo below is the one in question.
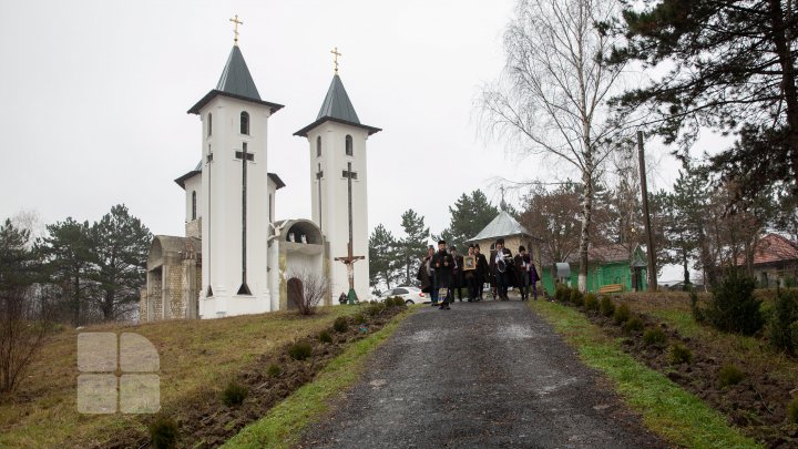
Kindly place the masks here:
POLYGON ((597 170, 618 132, 605 100, 623 68, 604 64, 615 38, 598 25, 615 13, 612 0, 519 0, 504 33, 503 74, 480 101, 489 134, 513 141, 524 154, 566 162, 580 173, 583 292, 597 170))

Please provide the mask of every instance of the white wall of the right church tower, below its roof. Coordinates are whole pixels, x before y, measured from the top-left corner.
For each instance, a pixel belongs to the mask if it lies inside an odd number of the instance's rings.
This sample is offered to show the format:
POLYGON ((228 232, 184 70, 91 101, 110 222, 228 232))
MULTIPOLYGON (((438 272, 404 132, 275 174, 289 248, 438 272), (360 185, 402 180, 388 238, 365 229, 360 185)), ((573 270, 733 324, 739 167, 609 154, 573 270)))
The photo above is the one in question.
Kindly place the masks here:
MULTIPOLYGON (((368 132, 361 127, 326 121, 308 132, 310 151, 310 191, 313 221, 329 242, 328 254, 332 297, 349 290, 346 266, 336 257, 348 255, 349 212, 348 185, 344 172, 348 163, 357 178, 352 178, 352 255, 364 256, 355 263, 355 292, 360 300, 370 299, 368 263, 368 132), (346 136, 352 139, 352 155, 346 154, 346 136), (317 137, 321 137, 318 155, 317 137), (319 166, 323 175, 317 175, 319 166), (320 182, 320 196, 319 196, 320 182), (320 208, 319 208, 320 206, 320 208)), ((334 302, 337 304, 337 302, 334 302)))

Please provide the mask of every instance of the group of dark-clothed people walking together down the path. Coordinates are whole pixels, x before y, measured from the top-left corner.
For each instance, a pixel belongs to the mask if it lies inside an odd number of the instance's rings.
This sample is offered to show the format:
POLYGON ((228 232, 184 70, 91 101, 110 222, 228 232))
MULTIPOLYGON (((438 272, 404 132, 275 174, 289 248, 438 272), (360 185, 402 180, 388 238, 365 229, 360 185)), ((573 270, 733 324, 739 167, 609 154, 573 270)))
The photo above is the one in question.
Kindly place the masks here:
POLYGON ((454 296, 462 302, 463 288, 467 290, 467 300, 482 300, 483 286, 490 283, 493 299, 509 300, 508 290, 518 287, 521 300, 532 297, 538 299, 538 280, 540 275, 535 268, 532 255, 526 248, 519 247, 519 254, 504 247, 504 239, 495 242, 495 249, 489 257, 481 254, 479 245, 469 245, 466 257, 458 255, 456 247, 447 248, 447 242, 438 241, 438 251, 430 245, 427 256, 421 258, 417 278, 421 283, 421 290, 429 293, 432 305, 448 310, 454 296))

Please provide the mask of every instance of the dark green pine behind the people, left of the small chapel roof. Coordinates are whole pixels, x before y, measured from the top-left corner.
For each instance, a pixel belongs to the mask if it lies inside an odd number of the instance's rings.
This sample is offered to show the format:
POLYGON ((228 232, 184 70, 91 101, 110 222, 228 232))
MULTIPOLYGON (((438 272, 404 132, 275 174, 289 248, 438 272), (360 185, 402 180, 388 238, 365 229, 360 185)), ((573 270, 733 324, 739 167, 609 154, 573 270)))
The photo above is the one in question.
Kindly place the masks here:
MULTIPOLYGON (((462 247, 466 241, 473 238, 495 218, 499 210, 490 204, 482 191, 475 190, 471 195, 460 195, 454 205, 449 206, 449 227, 440 236, 450 245, 462 247)), ((460 253, 466 252, 460 249, 460 253)))

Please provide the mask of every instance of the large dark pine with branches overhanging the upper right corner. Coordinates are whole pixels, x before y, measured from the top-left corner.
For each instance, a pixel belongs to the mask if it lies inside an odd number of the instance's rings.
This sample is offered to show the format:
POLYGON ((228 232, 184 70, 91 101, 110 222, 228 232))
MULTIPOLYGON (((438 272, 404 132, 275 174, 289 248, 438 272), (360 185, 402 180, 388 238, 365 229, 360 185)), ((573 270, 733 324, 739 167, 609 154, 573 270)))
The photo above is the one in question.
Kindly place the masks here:
POLYGON ((689 147, 702 127, 739 133, 712 157, 734 181, 732 201, 785 184, 798 188, 798 3, 782 0, 627 2, 627 39, 612 62, 640 61, 669 72, 617 99, 644 109, 666 143, 689 147))

